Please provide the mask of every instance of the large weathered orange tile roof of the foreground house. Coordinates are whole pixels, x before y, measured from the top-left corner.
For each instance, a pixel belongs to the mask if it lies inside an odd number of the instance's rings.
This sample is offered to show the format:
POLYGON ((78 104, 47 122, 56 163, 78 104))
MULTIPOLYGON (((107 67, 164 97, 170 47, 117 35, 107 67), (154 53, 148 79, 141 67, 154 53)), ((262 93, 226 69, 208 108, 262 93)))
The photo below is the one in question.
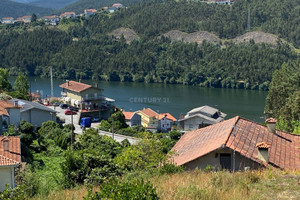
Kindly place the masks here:
POLYGON ((265 165, 258 158, 257 144, 269 147, 269 164, 285 169, 300 169, 300 136, 282 131, 273 134, 266 126, 239 116, 185 133, 171 151, 176 152, 173 159, 177 165, 224 147, 265 165))

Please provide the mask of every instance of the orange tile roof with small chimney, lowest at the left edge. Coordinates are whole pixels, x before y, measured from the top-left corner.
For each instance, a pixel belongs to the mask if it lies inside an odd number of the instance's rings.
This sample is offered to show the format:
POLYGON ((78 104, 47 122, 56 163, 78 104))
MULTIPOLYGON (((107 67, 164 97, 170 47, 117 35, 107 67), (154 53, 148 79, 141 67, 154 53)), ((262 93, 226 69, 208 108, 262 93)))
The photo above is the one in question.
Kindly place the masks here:
POLYGON ((17 165, 21 163, 20 138, 0 136, 0 166, 17 165), (4 150, 4 141, 8 140, 8 151, 4 150))

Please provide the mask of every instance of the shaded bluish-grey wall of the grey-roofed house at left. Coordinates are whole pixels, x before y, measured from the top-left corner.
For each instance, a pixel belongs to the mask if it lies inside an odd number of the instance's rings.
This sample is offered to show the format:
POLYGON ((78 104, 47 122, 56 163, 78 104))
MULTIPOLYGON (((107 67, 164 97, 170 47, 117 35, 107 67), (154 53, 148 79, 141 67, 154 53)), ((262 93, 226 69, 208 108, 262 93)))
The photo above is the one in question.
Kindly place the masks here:
POLYGON ((41 127, 43 122, 56 121, 56 114, 50 114, 49 111, 30 109, 21 112, 21 120, 25 120, 34 126, 41 127))

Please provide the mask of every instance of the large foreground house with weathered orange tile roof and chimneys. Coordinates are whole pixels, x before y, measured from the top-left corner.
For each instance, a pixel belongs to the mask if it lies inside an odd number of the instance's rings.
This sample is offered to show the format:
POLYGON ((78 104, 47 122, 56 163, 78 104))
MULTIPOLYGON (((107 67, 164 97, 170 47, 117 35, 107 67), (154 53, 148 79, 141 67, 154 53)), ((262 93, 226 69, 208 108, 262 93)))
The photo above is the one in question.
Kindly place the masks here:
POLYGON ((185 133, 171 149, 171 161, 186 169, 231 171, 273 166, 300 169, 300 136, 239 116, 185 133))

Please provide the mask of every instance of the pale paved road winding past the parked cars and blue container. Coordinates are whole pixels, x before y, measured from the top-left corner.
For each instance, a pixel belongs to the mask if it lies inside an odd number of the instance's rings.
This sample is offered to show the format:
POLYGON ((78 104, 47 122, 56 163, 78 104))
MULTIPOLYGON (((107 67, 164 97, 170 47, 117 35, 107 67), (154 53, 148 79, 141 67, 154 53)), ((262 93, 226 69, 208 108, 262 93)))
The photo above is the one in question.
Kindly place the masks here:
MULTIPOLYGON (((49 106, 50 108, 54 109, 53 106, 49 106)), ((55 110, 58 112, 56 114, 57 117, 59 117, 61 120, 64 120, 65 124, 71 124, 71 115, 65 115, 65 109, 61 109, 60 107, 56 107, 55 110)), ((78 117, 79 115, 73 115, 73 122, 74 122, 74 126, 75 126, 75 130, 74 133, 76 134, 82 134, 82 129, 80 128, 80 125, 78 125, 78 117)), ((100 123, 92 123, 92 128, 97 129, 97 127, 99 126, 100 123)), ((100 135, 107 135, 109 137, 113 137, 114 140, 116 140, 117 142, 122 142, 123 140, 127 139, 130 144, 136 144, 139 139, 138 138, 133 138, 133 137, 129 137, 126 135, 119 135, 119 134, 112 134, 110 132, 106 132, 106 131, 98 131, 100 135)))

